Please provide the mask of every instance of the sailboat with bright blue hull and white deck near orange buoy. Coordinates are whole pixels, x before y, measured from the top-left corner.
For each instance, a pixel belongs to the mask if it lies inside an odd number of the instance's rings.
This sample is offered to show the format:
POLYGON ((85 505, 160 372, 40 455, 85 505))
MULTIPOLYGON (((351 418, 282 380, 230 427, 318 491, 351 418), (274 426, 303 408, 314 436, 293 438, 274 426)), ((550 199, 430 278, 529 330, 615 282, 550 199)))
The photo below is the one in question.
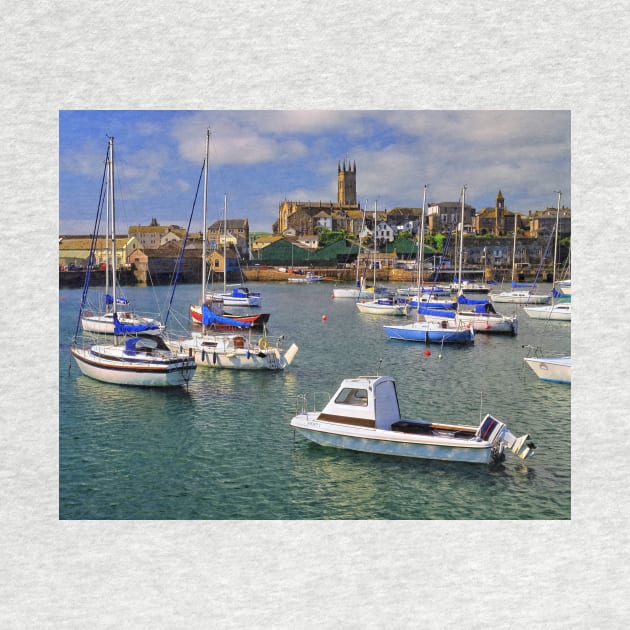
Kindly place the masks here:
MULTIPOLYGON (((424 215, 427 198, 427 186, 424 186, 422 196, 422 217, 420 227, 419 243, 419 267, 418 267, 418 296, 422 296, 423 288, 423 265, 424 254, 424 215)), ((462 196, 463 198, 463 196, 462 196)), ((462 201, 463 203, 463 201, 462 201)), ((461 229, 464 229, 463 206, 461 229)), ((422 306, 417 310, 417 319, 411 324, 404 326, 383 326, 390 339, 400 341, 419 341, 424 343, 456 343, 470 344, 474 342, 475 332, 471 326, 462 326, 454 319, 454 311, 449 309, 434 309, 426 311, 422 306), (427 317, 429 313, 431 317, 427 317)))

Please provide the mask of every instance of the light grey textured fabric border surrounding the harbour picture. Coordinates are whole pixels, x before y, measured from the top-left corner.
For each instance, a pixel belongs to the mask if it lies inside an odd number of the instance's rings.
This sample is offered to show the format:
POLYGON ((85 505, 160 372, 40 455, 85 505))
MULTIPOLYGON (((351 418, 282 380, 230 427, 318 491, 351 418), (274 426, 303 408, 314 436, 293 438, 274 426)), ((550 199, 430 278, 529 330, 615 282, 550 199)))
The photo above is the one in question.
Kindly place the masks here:
POLYGON ((2 627, 628 625, 627 3, 3 5, 2 627), (571 520, 59 521, 58 111, 89 108, 570 109, 571 520))

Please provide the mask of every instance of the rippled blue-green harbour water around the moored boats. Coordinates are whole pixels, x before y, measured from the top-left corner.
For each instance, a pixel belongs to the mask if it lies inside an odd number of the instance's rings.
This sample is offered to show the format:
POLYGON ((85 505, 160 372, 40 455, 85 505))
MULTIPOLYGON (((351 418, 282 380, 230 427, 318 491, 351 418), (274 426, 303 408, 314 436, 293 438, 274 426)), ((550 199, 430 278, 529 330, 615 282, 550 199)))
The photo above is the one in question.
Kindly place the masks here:
MULTIPOLYGON (((283 372, 198 368, 188 390, 107 385, 71 362, 80 289, 60 291, 59 516, 61 519, 569 519, 571 387, 539 381, 531 352, 571 353, 569 322, 530 319, 518 336, 477 334, 473 346, 392 341, 332 285, 251 283, 271 313, 268 336, 298 344, 283 372), (426 356, 426 349, 431 351, 426 356), (323 404, 345 377, 396 379, 406 417, 477 424, 482 413, 529 433, 533 458, 499 468, 326 449, 294 435, 297 396, 323 404)), ((539 285, 538 291, 549 291, 539 285)), ((156 312, 167 287, 125 296, 156 312)), ((169 328, 187 326, 199 285, 177 289, 169 328)), ((412 321, 411 317, 407 318, 412 321)))

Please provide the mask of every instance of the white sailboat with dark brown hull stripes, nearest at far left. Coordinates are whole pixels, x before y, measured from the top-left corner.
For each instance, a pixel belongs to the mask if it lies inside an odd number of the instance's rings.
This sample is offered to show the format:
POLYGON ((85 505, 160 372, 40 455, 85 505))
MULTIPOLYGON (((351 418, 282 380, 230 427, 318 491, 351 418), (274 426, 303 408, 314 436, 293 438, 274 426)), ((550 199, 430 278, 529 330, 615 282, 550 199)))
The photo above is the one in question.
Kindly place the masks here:
MULTIPOLYGON (((111 237, 115 239, 114 203, 114 138, 109 138, 107 150, 107 205, 111 211, 111 237)), ((116 252, 112 247, 113 287, 116 286, 116 252)), ((87 283, 84 287, 79 320, 85 308, 87 283)), ((173 352, 161 336, 146 336, 146 324, 124 324, 118 318, 117 304, 112 304, 113 344, 94 344, 93 339, 78 339, 77 331, 70 346, 82 374, 97 381, 116 385, 142 387, 173 387, 187 385, 196 369, 195 360, 188 354, 173 352), (124 345, 119 337, 127 336, 124 345)))

